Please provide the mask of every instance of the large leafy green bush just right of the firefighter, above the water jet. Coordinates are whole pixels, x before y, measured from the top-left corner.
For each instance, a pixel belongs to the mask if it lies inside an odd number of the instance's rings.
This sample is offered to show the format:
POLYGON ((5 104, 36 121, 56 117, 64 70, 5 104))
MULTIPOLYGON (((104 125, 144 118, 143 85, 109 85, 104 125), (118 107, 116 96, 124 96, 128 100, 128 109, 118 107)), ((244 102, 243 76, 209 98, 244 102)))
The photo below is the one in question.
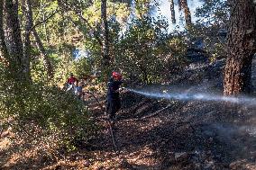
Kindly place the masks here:
POLYGON ((143 83, 160 82, 169 61, 182 53, 177 47, 172 51, 172 38, 169 38, 167 29, 168 24, 163 20, 157 21, 149 16, 134 19, 118 44, 115 66, 128 77, 137 77, 143 83))

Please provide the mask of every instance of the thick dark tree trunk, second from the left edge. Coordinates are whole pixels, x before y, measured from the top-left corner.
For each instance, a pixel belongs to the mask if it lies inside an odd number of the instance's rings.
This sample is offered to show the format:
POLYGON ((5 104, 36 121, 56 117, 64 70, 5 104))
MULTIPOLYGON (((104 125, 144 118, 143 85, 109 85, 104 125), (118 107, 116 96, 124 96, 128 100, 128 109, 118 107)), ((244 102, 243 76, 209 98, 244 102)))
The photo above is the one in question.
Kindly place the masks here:
POLYGON ((30 80, 28 58, 23 55, 23 40, 18 18, 18 0, 5 0, 5 11, 10 66, 12 67, 13 76, 16 80, 30 80))

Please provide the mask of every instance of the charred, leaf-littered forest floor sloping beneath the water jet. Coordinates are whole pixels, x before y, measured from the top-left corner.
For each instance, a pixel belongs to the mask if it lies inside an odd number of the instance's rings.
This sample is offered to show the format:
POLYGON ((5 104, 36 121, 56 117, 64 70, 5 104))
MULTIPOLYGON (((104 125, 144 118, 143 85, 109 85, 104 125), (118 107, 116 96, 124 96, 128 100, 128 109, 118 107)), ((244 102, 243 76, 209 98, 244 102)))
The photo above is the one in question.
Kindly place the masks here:
MULTIPOLYGON (((256 61, 253 66, 256 83, 256 61)), ((223 61, 190 65, 168 84, 170 89, 221 94, 223 67, 223 61)), ((95 117, 104 118, 98 103, 89 100, 95 117)), ((4 154, 6 135, 0 140, 1 169, 256 169, 256 104, 152 99, 132 92, 122 94, 122 101, 113 127, 116 148, 105 121, 98 121, 102 129, 92 145, 46 165, 4 154)))

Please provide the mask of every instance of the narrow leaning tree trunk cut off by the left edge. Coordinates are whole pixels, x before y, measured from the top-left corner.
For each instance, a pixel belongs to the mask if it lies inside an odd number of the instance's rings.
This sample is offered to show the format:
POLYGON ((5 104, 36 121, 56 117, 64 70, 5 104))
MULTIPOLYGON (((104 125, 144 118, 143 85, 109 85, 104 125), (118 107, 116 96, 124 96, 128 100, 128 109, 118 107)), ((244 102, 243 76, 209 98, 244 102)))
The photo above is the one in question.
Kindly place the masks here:
POLYGON ((4 0, 0 0, 0 59, 5 62, 8 57, 8 50, 5 44, 5 31, 4 31, 4 0))

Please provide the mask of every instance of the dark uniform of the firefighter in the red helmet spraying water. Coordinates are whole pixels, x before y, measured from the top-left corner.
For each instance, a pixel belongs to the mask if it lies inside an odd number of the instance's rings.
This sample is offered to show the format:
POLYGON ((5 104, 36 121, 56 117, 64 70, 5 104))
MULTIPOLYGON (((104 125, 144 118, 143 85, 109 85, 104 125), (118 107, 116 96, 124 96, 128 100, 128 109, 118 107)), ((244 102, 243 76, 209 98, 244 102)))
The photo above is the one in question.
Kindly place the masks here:
POLYGON ((118 89, 122 83, 123 81, 116 81, 114 78, 110 78, 108 82, 106 112, 108 113, 110 120, 114 120, 115 113, 121 108, 118 89))

